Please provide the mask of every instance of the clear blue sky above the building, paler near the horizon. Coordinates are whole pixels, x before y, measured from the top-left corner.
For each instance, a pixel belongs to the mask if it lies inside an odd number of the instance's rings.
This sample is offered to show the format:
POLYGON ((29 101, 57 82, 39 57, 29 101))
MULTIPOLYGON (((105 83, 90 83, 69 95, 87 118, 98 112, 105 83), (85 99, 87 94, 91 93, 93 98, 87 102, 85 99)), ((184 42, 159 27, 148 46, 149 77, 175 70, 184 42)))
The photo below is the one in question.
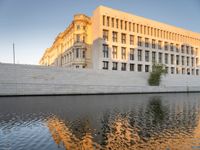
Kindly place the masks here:
POLYGON ((0 62, 38 64, 76 13, 99 5, 200 32, 200 0, 0 0, 0 62))

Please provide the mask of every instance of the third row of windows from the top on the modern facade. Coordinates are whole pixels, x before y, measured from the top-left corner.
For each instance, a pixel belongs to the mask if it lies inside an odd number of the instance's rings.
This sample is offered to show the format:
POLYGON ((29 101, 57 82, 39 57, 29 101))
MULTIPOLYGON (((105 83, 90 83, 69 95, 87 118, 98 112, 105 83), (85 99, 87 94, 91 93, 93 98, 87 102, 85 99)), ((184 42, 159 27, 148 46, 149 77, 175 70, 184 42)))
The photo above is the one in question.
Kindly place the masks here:
MULTIPOLYGON (((113 46, 112 48, 112 58, 113 59, 117 59, 117 46, 113 46)), ((133 48, 130 48, 130 52, 129 52, 129 60, 134 60, 135 58, 135 49, 133 48)), ((137 60, 138 61, 143 61, 143 57, 145 58, 145 61, 146 62, 149 62, 150 61, 150 53, 151 56, 152 56, 152 62, 156 62, 156 57, 157 57, 157 54, 155 51, 148 51, 148 50, 145 50, 144 51, 144 56, 142 55, 143 53, 143 50, 142 49, 138 49, 137 50, 137 60)), ((126 60, 127 58, 127 52, 126 52, 126 48, 125 47, 121 47, 121 59, 122 60, 126 60)), ((194 58, 194 57, 189 57, 189 56, 180 56, 180 55, 175 55, 175 54, 168 54, 168 53, 161 53, 161 52, 158 52, 158 62, 159 63, 163 63, 163 58, 164 58, 164 63, 165 64, 169 64, 169 56, 170 56, 170 62, 171 64, 176 64, 176 65, 187 65, 189 66, 190 65, 190 62, 191 62, 191 66, 195 66, 195 62, 196 62, 196 65, 198 65, 198 58, 194 58), (186 63, 185 63, 186 61, 186 63)), ((104 58, 109 58, 109 49, 108 49, 108 45, 107 44, 103 44, 103 57, 104 58)))

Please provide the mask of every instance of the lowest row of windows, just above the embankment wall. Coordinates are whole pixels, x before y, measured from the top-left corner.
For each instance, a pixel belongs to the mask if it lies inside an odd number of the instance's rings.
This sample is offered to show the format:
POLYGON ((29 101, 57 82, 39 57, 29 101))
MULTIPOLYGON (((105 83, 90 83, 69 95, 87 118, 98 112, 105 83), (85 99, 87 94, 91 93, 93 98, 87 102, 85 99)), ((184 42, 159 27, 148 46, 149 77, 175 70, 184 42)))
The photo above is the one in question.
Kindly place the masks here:
MULTIPOLYGON (((112 70, 118 70, 118 62, 112 62, 112 70)), ((143 66, 144 66, 144 72, 149 72, 150 71, 150 65, 143 65, 143 64, 127 64, 127 63, 121 63, 121 70, 122 71, 126 71, 128 70, 127 67, 129 67, 129 71, 138 71, 138 72, 142 72, 143 71, 143 66), (137 68, 135 68, 137 67, 137 68)), ((108 61, 103 61, 103 68, 104 70, 108 70, 109 69, 109 62, 108 61)), ((190 69, 190 68, 175 68, 175 67, 165 67, 165 70, 167 73, 171 73, 171 74, 192 74, 195 75, 195 70, 196 70, 196 75, 199 75, 199 69, 190 69), (170 72, 169 72, 170 69, 170 72)))

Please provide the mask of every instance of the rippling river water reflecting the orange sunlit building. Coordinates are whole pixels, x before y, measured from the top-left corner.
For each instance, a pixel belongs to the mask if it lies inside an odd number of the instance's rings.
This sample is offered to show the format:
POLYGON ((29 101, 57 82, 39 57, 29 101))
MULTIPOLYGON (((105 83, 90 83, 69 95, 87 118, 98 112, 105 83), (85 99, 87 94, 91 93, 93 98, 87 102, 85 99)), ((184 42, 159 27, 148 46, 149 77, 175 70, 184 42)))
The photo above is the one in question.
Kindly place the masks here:
POLYGON ((200 94, 0 98, 0 150, 200 149, 200 94))

